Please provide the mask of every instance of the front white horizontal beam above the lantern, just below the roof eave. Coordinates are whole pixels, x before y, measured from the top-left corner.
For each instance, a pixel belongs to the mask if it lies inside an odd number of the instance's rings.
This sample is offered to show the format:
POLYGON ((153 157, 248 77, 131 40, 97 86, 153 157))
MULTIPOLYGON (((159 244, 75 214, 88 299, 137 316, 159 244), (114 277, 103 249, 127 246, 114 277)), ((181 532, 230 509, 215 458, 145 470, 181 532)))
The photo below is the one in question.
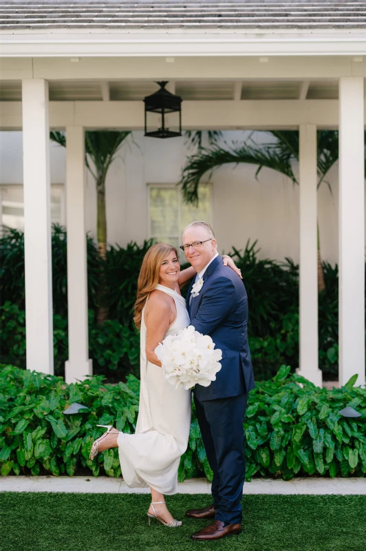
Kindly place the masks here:
MULTIPOLYGON (((365 46, 366 48, 366 46, 365 46)), ((78 63, 65 58, 0 59, 1 80, 94 80, 174 81, 255 79, 322 80, 341 76, 365 76, 366 56, 271 57, 268 63, 240 56, 176 57, 166 63, 161 57, 82 57, 78 63), (243 78, 245 76, 245 79, 243 78)))

